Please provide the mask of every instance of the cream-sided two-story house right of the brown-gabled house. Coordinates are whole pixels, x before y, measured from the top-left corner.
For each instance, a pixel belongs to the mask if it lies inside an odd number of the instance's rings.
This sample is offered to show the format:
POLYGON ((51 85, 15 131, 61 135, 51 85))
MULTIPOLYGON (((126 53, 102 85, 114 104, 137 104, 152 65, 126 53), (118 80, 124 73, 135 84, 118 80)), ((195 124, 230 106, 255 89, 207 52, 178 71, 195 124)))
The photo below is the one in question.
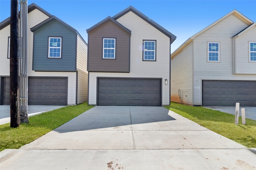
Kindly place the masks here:
POLYGON ((256 23, 233 10, 171 54, 171 101, 256 106, 256 23))

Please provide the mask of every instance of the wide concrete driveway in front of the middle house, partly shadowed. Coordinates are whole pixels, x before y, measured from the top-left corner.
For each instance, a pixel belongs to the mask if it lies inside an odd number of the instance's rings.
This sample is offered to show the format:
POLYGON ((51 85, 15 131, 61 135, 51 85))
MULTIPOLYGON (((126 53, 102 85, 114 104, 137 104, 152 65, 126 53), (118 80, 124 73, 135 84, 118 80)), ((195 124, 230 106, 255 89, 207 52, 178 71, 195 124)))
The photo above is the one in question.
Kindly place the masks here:
POLYGON ((255 170, 256 154, 164 107, 96 106, 18 150, 1 170, 255 170))

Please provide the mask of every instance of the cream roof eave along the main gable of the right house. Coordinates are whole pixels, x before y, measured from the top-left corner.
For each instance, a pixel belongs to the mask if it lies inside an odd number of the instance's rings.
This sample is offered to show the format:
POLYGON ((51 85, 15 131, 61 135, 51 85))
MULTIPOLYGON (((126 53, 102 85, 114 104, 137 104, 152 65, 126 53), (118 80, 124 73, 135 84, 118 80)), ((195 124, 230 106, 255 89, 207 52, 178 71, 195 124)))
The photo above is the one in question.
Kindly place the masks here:
POLYGON ((231 12, 229 12, 228 14, 226 14, 225 16, 223 16, 222 18, 220 18, 219 20, 215 21, 214 23, 212 23, 211 25, 209 25, 208 27, 202 29, 201 31, 199 31, 198 33, 194 34, 192 37, 190 37, 189 39, 187 39, 182 45, 180 45, 180 47, 178 47, 178 49, 176 49, 172 54, 171 57, 173 55, 176 55, 177 53, 179 53, 182 49, 184 49, 184 47, 186 47, 191 41, 193 41, 193 39, 195 39, 198 35, 200 35, 201 33, 203 33, 204 31, 210 29, 211 27, 213 27, 214 25, 218 24, 220 21, 224 20, 225 18, 227 18, 230 15, 234 15, 236 18, 238 18, 239 20, 243 21, 244 23, 246 23, 247 25, 252 25, 254 22, 252 20, 250 20, 249 18, 247 18, 246 16, 244 16, 243 14, 241 14, 240 12, 238 12, 237 10, 233 10, 231 12))

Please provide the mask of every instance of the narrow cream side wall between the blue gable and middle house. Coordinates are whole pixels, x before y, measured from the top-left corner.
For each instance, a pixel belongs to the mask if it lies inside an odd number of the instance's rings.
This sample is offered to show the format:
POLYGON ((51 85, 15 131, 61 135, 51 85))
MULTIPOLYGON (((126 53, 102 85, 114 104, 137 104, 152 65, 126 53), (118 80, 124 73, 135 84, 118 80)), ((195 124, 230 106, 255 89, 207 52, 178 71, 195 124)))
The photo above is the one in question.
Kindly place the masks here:
POLYGON ((88 71, 87 71, 87 44, 80 35, 77 35, 76 68, 77 76, 77 104, 87 102, 88 99, 88 71))

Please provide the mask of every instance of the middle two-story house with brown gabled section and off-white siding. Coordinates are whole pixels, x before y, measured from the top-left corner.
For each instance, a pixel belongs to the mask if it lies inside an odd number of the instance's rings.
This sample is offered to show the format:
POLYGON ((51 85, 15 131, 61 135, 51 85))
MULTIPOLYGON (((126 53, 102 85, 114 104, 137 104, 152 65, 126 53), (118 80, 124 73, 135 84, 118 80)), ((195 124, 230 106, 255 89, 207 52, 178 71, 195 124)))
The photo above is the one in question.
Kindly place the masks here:
MULTIPOLYGON (((102 34, 102 37, 117 37, 115 38, 117 45, 120 45, 122 37, 127 35, 127 33, 124 33, 126 31, 130 33, 130 39, 128 39, 130 44, 125 47, 128 49, 126 57, 128 60, 126 64, 128 64, 129 67, 128 70, 122 71, 112 71, 111 68, 108 69, 108 71, 97 71, 95 69, 93 70, 93 68, 89 68, 88 104, 128 106, 169 105, 170 44, 176 37, 154 21, 149 20, 148 17, 144 16, 144 14, 132 6, 112 18, 106 18, 101 21, 100 24, 104 26, 99 28, 99 24, 96 24, 87 30, 89 44, 88 66, 90 67, 93 64, 92 58, 98 58, 102 61, 102 54, 93 55, 94 51, 96 51, 96 47, 92 45, 95 39, 94 37, 96 37, 94 32, 98 31, 99 33, 97 33, 97 35, 102 34), (116 33, 116 35, 108 33, 104 26, 109 22, 114 23, 112 27, 119 27, 118 30, 121 27, 123 31, 120 31, 121 33, 119 34, 116 33), (120 35, 122 33, 124 35, 120 35), (154 59, 151 61, 146 61, 145 58, 143 58, 143 45, 145 41, 154 41, 156 45, 156 49, 154 49, 154 59), (113 81, 116 84, 108 87, 101 86, 99 83, 103 80, 106 82, 113 81), (122 81, 122 85, 117 85, 118 80, 120 80, 120 82, 122 81), (165 84, 165 81, 168 81, 168 84, 165 84), (126 82, 127 84, 125 84, 126 82), (152 86, 150 86, 150 84, 152 84, 152 86), (157 85, 155 86, 154 84, 157 85), (110 90, 111 88, 113 88, 113 90, 110 90), (104 92, 101 92, 102 89, 104 92), (108 90, 109 92, 107 92, 108 90)), ((99 41, 102 41, 101 39, 100 37, 99 41)), ((116 50, 118 50, 118 48, 116 48, 116 50)), ((118 59, 121 58, 118 54, 120 54, 119 51, 117 51, 116 60, 109 60, 112 63, 116 63, 116 67, 120 64, 124 64, 118 61, 118 59)), ((103 64, 99 70, 104 67, 108 67, 107 64, 103 64)))

